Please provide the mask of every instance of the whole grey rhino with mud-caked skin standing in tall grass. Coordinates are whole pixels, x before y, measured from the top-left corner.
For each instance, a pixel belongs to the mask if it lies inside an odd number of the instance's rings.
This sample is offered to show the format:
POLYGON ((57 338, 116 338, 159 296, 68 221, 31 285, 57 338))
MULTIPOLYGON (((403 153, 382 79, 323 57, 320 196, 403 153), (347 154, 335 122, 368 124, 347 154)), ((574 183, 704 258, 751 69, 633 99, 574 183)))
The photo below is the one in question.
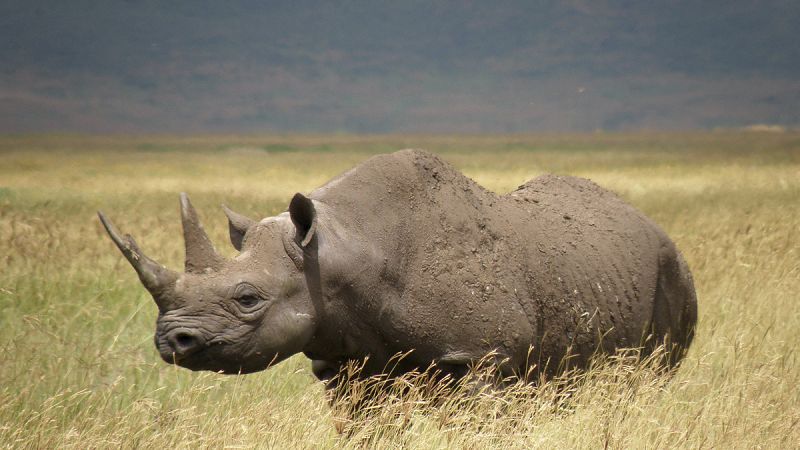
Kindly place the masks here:
POLYGON ((667 343, 674 365, 697 320, 692 277, 653 222, 588 180, 544 175, 483 189, 418 150, 373 157, 289 211, 253 221, 226 208, 239 256, 215 251, 185 195, 186 273, 112 239, 159 309, 162 358, 247 373, 295 353, 321 379, 435 364, 456 378, 496 352, 504 374, 551 375, 570 356, 667 343))

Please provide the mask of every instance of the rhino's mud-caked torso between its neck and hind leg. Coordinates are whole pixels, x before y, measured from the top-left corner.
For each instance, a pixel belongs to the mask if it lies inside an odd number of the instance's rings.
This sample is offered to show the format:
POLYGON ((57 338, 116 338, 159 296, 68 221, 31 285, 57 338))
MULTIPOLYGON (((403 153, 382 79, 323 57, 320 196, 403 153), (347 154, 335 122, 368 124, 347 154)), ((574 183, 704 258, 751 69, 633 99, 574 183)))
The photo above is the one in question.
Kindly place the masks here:
POLYGON ((346 307, 385 354, 414 349, 426 364, 494 350, 523 367, 559 361, 570 346, 588 356, 601 342, 637 345, 652 316, 668 239, 590 181, 542 176, 501 196, 406 150, 367 160, 312 198, 381 255, 368 295, 346 307))

